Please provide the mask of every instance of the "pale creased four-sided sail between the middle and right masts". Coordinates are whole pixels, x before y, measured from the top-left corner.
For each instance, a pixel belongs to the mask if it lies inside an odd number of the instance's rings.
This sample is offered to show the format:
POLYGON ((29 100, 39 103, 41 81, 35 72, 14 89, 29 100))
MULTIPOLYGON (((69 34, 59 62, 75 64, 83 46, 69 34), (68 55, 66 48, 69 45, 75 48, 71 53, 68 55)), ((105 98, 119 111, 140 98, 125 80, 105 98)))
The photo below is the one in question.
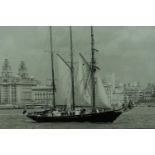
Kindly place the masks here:
POLYGON ((81 104, 91 104, 91 72, 87 62, 79 56, 77 72, 77 94, 81 104))

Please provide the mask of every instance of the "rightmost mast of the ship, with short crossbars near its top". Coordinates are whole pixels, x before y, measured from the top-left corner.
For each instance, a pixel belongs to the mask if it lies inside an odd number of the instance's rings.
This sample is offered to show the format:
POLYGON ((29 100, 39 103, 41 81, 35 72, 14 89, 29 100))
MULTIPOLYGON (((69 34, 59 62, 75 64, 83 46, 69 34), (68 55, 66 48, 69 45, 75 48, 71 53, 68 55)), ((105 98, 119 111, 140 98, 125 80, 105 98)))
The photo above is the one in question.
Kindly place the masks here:
POLYGON ((95 71, 96 71, 96 61, 95 61, 95 48, 94 48, 94 34, 93 27, 91 26, 91 83, 92 83, 92 108, 95 110, 95 71))

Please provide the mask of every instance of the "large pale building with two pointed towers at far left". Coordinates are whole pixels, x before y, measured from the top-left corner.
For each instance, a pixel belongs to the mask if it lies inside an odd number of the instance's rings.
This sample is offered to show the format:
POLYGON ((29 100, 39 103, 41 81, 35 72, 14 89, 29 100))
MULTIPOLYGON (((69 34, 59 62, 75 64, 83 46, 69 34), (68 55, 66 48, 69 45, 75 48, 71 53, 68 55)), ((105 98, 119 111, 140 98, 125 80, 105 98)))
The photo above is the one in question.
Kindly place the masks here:
POLYGON ((32 102, 32 87, 37 81, 28 75, 24 61, 21 61, 18 74, 13 75, 8 59, 4 60, 0 75, 0 104, 22 106, 32 102))

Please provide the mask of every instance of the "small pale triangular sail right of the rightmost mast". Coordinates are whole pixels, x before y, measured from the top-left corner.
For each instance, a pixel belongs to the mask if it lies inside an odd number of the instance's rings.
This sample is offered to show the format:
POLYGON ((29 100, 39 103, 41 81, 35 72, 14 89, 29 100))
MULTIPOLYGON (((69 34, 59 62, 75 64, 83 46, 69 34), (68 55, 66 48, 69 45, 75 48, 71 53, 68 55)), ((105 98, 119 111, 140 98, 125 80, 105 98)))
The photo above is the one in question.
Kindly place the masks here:
POLYGON ((99 73, 96 74, 96 106, 102 106, 105 109, 112 108, 99 73))

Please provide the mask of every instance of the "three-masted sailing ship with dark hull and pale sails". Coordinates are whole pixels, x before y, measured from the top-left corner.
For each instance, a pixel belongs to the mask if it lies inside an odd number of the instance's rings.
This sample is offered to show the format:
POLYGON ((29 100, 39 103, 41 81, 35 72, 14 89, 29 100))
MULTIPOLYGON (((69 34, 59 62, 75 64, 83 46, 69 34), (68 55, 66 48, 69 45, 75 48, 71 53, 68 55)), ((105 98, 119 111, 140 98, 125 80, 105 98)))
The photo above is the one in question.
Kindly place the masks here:
POLYGON ((96 64, 93 27, 90 27, 91 61, 79 53, 78 69, 74 65, 72 27, 70 34, 70 62, 53 53, 52 27, 50 27, 50 49, 52 68, 53 99, 50 108, 40 112, 30 112, 27 117, 36 122, 113 122, 122 114, 122 106, 114 108, 108 99, 100 68, 96 64), (56 97, 55 68, 57 61, 59 87, 61 95, 56 97), (63 77, 63 79, 61 79, 63 77), (59 102, 58 102, 59 100, 59 102), (60 107, 60 104, 63 105, 60 107))

